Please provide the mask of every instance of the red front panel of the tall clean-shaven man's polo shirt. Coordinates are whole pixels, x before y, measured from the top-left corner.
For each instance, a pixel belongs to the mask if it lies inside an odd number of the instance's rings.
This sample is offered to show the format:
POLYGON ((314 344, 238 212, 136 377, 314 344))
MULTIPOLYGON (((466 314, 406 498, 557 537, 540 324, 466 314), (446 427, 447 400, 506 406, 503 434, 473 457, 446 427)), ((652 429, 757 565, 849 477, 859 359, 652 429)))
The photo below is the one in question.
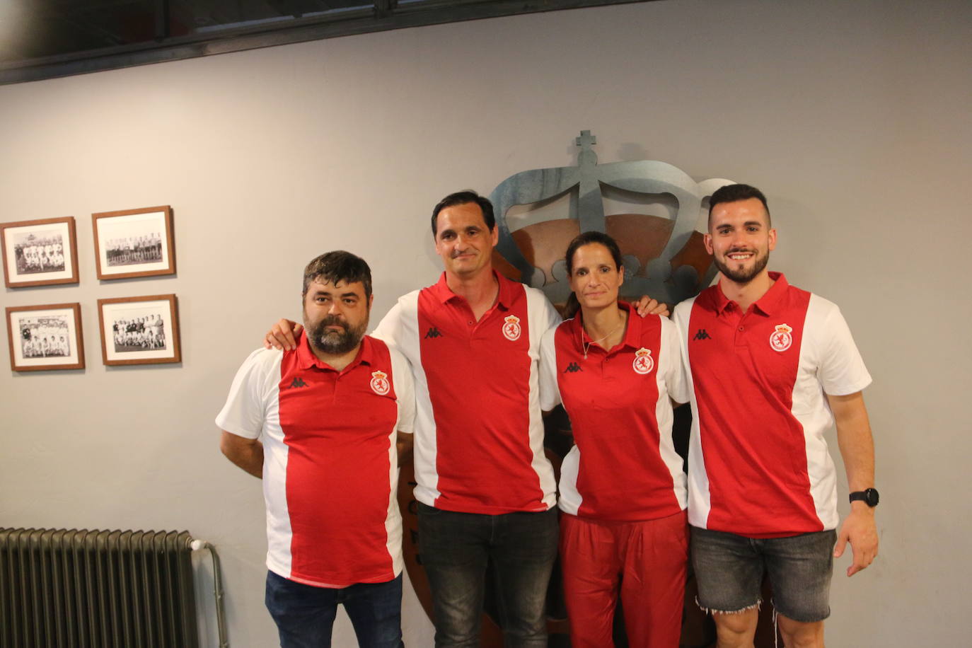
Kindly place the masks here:
POLYGON ((497 303, 478 322, 444 274, 418 295, 421 366, 435 424, 434 506, 443 510, 549 508, 531 447, 528 299, 521 284, 496 276, 497 303))

